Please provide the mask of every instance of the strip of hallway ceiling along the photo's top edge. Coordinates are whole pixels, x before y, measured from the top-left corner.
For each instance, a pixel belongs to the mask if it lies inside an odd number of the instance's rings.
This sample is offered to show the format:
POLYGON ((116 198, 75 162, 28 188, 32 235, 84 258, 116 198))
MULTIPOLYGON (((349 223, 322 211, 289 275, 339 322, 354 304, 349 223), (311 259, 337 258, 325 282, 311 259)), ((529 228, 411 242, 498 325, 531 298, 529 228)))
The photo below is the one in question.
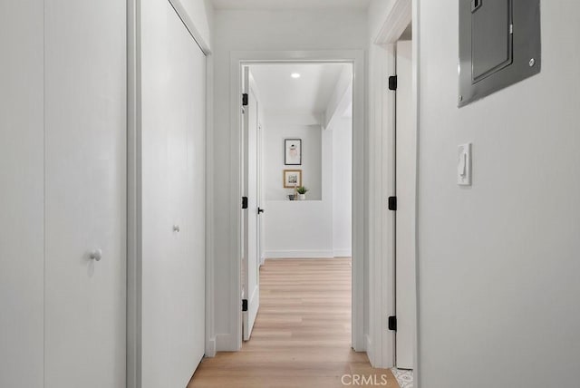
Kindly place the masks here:
POLYGON ((371 0, 212 0, 216 9, 366 9, 371 0))

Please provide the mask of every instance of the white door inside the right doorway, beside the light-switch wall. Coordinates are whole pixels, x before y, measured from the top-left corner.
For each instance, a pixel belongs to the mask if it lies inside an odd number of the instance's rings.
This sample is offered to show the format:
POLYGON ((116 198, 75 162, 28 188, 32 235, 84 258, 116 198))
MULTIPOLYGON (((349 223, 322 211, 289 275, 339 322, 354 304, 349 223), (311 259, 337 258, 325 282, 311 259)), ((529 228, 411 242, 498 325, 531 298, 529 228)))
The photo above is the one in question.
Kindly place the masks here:
POLYGON ((415 335, 416 129, 411 101, 411 42, 397 43, 396 364, 412 369, 415 335))

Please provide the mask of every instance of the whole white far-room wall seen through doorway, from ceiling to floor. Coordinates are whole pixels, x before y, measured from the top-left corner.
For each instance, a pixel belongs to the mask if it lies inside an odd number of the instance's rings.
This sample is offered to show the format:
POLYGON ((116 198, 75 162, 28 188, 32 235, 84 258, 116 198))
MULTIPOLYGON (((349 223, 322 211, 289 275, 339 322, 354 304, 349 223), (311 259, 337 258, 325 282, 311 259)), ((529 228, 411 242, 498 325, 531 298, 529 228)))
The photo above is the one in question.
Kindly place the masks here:
MULTIPOLYGON (((350 257, 352 255, 353 120, 334 112, 343 98, 350 76, 336 86, 338 97, 329 102, 332 127, 323 131, 323 115, 266 115, 265 171, 266 224, 264 257, 350 257), (314 117, 316 116, 316 117, 314 117), (316 122, 310 125, 297 123, 316 122), (285 166, 285 138, 303 139, 303 165, 285 166), (307 202, 289 201, 293 189, 282 187, 282 171, 301 169, 303 184, 310 189, 307 202), (291 203, 287 203, 291 202, 291 203)), ((346 73, 346 72, 345 72, 346 73)), ((352 88, 349 89, 352 102, 352 88)))

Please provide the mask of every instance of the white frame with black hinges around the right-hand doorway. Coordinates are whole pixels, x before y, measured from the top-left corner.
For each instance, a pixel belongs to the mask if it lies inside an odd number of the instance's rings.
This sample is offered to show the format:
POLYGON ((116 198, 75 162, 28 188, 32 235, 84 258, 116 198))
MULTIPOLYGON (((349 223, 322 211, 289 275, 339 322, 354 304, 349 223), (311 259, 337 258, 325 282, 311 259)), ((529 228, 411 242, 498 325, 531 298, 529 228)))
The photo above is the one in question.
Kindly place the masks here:
MULTIPOLYGON (((381 214, 372 228, 370 257, 370 335, 373 343, 367 344, 368 354, 373 366, 391 367, 394 365, 394 334, 386 331, 386 317, 394 314, 394 218, 386 208, 386 200, 394 194, 394 150, 395 150, 395 109, 394 93, 388 92, 389 74, 395 73, 395 44, 401 34, 411 23, 412 26, 412 104, 416 116, 417 144, 420 136, 419 121, 419 1, 395 0, 389 14, 385 17, 382 28, 373 37, 370 48, 370 65, 372 72, 369 84, 372 85, 372 104, 370 110, 370 153, 371 153, 371 214, 381 214), (373 211, 376 209, 376 211, 373 211)), ((419 149, 417 149, 419 158, 419 149)), ((419 163, 417 163, 419 166, 419 163)), ((419 174, 417 173, 417 177, 419 174)), ((417 185, 417 200, 419 185, 417 185)), ((416 228, 419 225, 419 212, 416 207, 416 228)), ((416 279, 419 279, 419 255, 416 236, 416 279)), ((416 282, 417 325, 415 327, 414 351, 414 386, 419 386, 419 282, 416 282)))

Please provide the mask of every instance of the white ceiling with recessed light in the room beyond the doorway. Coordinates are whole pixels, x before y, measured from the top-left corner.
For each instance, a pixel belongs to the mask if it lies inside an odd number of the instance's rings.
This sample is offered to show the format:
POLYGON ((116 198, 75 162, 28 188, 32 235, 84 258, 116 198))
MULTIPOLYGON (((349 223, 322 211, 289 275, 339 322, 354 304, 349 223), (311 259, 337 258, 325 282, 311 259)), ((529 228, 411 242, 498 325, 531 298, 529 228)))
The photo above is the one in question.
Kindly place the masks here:
POLYGON ((269 63, 250 66, 266 112, 321 113, 346 63, 269 63), (292 73, 300 73, 294 79, 292 73))

